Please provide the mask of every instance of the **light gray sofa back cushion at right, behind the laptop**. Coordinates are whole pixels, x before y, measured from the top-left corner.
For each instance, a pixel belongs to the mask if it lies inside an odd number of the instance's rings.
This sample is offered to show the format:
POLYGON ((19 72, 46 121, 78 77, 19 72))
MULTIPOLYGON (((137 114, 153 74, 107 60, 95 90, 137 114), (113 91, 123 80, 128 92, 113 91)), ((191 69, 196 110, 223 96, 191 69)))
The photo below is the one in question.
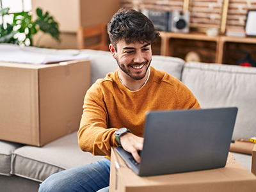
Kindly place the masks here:
POLYGON ((232 140, 256 136, 256 68, 188 62, 182 82, 202 108, 238 108, 232 140))

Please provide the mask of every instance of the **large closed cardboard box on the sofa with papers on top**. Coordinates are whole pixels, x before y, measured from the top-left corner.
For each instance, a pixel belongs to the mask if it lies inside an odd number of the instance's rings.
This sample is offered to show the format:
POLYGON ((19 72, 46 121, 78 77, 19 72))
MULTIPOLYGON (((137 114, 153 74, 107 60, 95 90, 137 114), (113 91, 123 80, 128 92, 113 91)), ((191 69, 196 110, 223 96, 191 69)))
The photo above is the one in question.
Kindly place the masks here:
POLYGON ((77 131, 90 61, 0 62, 0 140, 42 146, 77 131))

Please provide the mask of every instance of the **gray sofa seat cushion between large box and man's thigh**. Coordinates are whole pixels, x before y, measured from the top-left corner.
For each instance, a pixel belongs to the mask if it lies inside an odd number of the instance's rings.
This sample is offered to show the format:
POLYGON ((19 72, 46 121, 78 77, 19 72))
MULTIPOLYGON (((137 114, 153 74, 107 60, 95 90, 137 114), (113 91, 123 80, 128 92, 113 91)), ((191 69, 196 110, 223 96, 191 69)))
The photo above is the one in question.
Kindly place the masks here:
POLYGON ((102 158, 82 152, 77 143, 77 132, 73 132, 43 147, 26 145, 14 150, 12 174, 42 182, 53 173, 102 158))

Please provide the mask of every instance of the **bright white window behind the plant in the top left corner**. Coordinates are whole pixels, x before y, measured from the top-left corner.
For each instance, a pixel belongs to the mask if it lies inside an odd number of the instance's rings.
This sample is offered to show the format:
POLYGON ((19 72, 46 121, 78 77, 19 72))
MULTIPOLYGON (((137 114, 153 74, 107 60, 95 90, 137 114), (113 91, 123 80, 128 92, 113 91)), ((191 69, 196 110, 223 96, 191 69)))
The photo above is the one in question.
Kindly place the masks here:
POLYGON ((32 10, 31 0, 0 0, 0 8, 10 8, 9 14, 0 17, 0 24, 12 24, 13 14, 20 12, 30 12, 32 10))

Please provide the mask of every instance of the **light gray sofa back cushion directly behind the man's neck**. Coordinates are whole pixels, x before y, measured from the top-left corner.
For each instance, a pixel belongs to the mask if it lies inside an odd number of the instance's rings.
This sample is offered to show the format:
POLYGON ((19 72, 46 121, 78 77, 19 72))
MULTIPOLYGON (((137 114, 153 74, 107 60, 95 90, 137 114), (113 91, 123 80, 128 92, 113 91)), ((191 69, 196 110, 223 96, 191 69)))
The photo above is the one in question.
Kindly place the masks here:
MULTIPOLYGON (((99 78, 104 78, 109 72, 114 72, 118 65, 109 51, 96 51, 83 49, 83 54, 88 54, 91 61, 91 84, 99 78)), ((182 68, 185 61, 180 58, 166 56, 152 56, 152 67, 157 70, 165 70, 169 74, 180 80, 182 68)))

